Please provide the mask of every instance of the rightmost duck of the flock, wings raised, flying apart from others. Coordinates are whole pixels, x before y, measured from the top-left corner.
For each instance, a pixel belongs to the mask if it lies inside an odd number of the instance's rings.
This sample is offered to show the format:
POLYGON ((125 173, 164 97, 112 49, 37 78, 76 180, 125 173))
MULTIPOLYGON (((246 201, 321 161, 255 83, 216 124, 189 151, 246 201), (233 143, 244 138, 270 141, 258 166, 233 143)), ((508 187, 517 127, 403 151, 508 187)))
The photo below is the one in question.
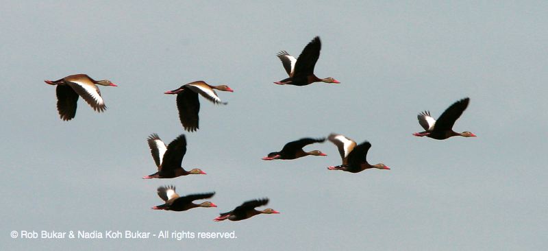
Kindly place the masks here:
POLYGON ((456 101, 454 104, 449 106, 445 112, 443 112, 440 118, 436 121, 433 117, 430 116, 430 112, 425 110, 424 112, 417 115, 419 119, 419 124, 424 128, 424 132, 415 132, 414 136, 427 136, 432 139, 448 139, 452 136, 463 136, 463 137, 475 137, 475 134, 471 132, 455 132, 453 131, 453 125, 455 121, 462 115, 462 112, 466 110, 470 99, 468 97, 456 101))

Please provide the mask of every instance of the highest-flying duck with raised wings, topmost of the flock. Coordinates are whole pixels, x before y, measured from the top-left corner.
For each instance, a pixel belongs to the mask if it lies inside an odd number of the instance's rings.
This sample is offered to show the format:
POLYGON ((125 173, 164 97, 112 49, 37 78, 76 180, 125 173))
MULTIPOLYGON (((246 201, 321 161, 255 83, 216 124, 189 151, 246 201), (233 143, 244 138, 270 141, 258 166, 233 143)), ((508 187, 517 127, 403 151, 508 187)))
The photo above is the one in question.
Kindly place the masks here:
POLYGON ((292 84, 294 86, 306 86, 314 82, 325 82, 338 84, 333 77, 319 78, 314 75, 314 66, 320 57, 321 41, 316 36, 306 47, 304 47, 298 59, 289 55, 287 51, 279 51, 277 56, 282 60, 289 77, 274 84, 292 84))

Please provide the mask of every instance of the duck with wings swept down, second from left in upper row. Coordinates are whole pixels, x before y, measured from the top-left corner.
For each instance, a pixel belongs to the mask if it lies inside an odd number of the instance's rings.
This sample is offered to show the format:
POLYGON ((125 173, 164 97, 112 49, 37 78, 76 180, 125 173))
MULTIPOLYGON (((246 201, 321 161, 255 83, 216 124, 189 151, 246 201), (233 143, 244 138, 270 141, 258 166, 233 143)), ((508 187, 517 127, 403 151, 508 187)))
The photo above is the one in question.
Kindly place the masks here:
POLYGON ((226 85, 210 86, 203 81, 195 81, 185 84, 173 91, 166 91, 165 94, 177 94, 177 109, 179 110, 179 119, 183 124, 184 130, 194 132, 198 130, 198 112, 200 111, 200 101, 198 93, 214 104, 227 104, 222 102, 214 89, 219 91, 234 92, 226 85))

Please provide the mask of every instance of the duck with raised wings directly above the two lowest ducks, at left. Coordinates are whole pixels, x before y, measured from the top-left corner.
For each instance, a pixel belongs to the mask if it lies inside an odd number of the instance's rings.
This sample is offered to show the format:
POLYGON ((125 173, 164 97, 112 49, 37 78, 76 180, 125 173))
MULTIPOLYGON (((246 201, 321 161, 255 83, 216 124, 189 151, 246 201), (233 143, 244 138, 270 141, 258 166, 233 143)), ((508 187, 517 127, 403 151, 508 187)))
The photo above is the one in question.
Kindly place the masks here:
POLYGON ((186 171, 181 167, 184 154, 186 154, 186 139, 184 134, 179 135, 177 139, 171 141, 167 147, 158 134, 151 134, 147 142, 149 143, 150 152, 154 163, 158 167, 158 171, 155 174, 142 178, 175 178, 188 174, 206 174, 198 168, 186 171))

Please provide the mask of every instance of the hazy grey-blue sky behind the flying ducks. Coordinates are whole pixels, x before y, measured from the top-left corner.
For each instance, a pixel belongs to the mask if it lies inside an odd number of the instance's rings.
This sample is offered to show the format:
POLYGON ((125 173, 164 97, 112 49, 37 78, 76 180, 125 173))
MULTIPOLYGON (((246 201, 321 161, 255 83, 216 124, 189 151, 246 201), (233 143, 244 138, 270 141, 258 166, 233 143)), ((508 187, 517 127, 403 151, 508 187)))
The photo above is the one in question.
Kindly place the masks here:
POLYGON ((542 250, 548 246, 546 1, 3 1, 3 250, 542 250), (316 75, 342 84, 279 86, 280 50, 320 36, 316 75), (108 110, 79 99, 62 121, 43 80, 87 73, 108 110), (227 106, 201 100, 200 130, 183 132, 182 84, 227 84, 227 106), (458 132, 418 138, 470 97, 458 132), (185 133, 186 169, 206 176, 142 180, 146 139, 185 133), (264 161, 302 137, 369 140, 390 171, 328 171, 327 157, 264 161), (156 188, 216 191, 219 208, 153 211, 156 188), (279 215, 213 222, 246 200, 279 215), (266 207, 262 207, 266 208, 266 207), (12 230, 235 231, 238 239, 12 239, 12 230))

